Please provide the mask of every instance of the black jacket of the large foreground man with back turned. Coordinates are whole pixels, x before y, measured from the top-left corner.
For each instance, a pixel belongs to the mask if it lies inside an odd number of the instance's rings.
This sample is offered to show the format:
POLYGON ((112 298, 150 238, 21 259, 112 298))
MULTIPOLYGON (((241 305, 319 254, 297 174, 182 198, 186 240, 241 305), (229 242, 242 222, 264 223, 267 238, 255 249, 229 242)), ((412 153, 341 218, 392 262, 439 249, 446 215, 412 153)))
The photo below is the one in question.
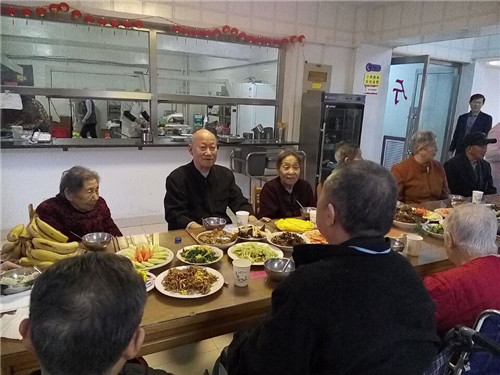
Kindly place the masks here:
POLYGON ((295 246, 297 269, 264 321, 234 336, 228 373, 421 375, 437 353, 435 306, 389 248, 382 237, 295 246))

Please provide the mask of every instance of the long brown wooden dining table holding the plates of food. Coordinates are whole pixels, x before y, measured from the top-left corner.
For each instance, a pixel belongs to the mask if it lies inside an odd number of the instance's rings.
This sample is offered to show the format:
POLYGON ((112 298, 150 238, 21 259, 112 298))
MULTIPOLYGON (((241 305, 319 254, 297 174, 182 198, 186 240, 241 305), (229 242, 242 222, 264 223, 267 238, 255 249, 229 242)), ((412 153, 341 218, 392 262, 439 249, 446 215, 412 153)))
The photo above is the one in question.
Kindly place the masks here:
MULTIPOLYGON (((271 232, 278 230, 274 221, 266 226, 271 232)), ((150 271, 159 275, 171 267, 185 265, 175 257, 176 252, 184 246, 197 244, 196 236, 204 230, 173 230, 114 238, 104 251, 116 253, 141 239, 166 247, 174 253, 174 258, 169 264, 150 271)), ((404 234, 404 231, 393 227, 388 236, 404 237, 404 234)), ((284 256, 291 256, 291 252, 285 252, 284 256)), ((443 240, 431 236, 424 237, 419 256, 408 256, 405 252, 401 256, 406 257, 422 277, 453 267, 446 256, 443 240)), ((267 277, 263 266, 252 266, 246 287, 234 285, 232 263, 227 251, 224 251, 220 261, 208 267, 219 271, 225 281, 224 286, 214 294, 186 299, 164 295, 157 289, 148 292, 141 322, 146 335, 139 356, 249 328, 265 316, 278 282, 267 277)), ((20 340, 1 339, 2 374, 29 374, 37 368, 34 354, 20 340)))

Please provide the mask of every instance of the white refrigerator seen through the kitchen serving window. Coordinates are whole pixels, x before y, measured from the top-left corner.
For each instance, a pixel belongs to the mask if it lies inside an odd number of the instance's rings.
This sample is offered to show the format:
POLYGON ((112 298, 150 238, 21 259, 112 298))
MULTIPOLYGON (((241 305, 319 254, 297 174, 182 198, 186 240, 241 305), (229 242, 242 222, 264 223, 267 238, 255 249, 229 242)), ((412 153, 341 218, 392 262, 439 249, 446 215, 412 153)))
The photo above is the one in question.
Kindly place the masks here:
MULTIPOLYGON (((237 98, 276 99, 276 85, 267 83, 236 83, 229 95, 237 98)), ((274 129, 274 106, 238 105, 231 107, 231 134, 252 133, 257 125, 274 129)))

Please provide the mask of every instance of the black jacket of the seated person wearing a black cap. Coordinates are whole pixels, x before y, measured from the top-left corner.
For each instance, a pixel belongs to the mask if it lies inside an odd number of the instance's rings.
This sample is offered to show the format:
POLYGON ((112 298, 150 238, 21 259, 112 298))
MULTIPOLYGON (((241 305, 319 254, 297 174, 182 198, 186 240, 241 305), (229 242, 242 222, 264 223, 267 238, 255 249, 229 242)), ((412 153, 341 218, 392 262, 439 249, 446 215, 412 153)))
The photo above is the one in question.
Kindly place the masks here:
POLYGON ((472 196, 472 190, 479 190, 484 194, 495 194, 497 192, 496 187, 493 186, 490 163, 486 160, 478 160, 476 168, 479 168, 479 180, 465 153, 455 155, 444 163, 451 194, 470 197, 472 196))

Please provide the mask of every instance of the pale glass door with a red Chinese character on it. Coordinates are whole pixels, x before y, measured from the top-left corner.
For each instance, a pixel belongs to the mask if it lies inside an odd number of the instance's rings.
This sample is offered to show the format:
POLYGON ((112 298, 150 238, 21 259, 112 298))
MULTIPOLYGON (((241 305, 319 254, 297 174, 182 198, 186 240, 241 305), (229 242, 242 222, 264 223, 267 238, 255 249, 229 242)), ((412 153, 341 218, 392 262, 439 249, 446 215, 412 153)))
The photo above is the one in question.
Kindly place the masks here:
POLYGON ((428 64, 429 56, 395 57, 391 60, 383 134, 407 140, 401 160, 410 152, 408 140, 419 126, 428 64))

